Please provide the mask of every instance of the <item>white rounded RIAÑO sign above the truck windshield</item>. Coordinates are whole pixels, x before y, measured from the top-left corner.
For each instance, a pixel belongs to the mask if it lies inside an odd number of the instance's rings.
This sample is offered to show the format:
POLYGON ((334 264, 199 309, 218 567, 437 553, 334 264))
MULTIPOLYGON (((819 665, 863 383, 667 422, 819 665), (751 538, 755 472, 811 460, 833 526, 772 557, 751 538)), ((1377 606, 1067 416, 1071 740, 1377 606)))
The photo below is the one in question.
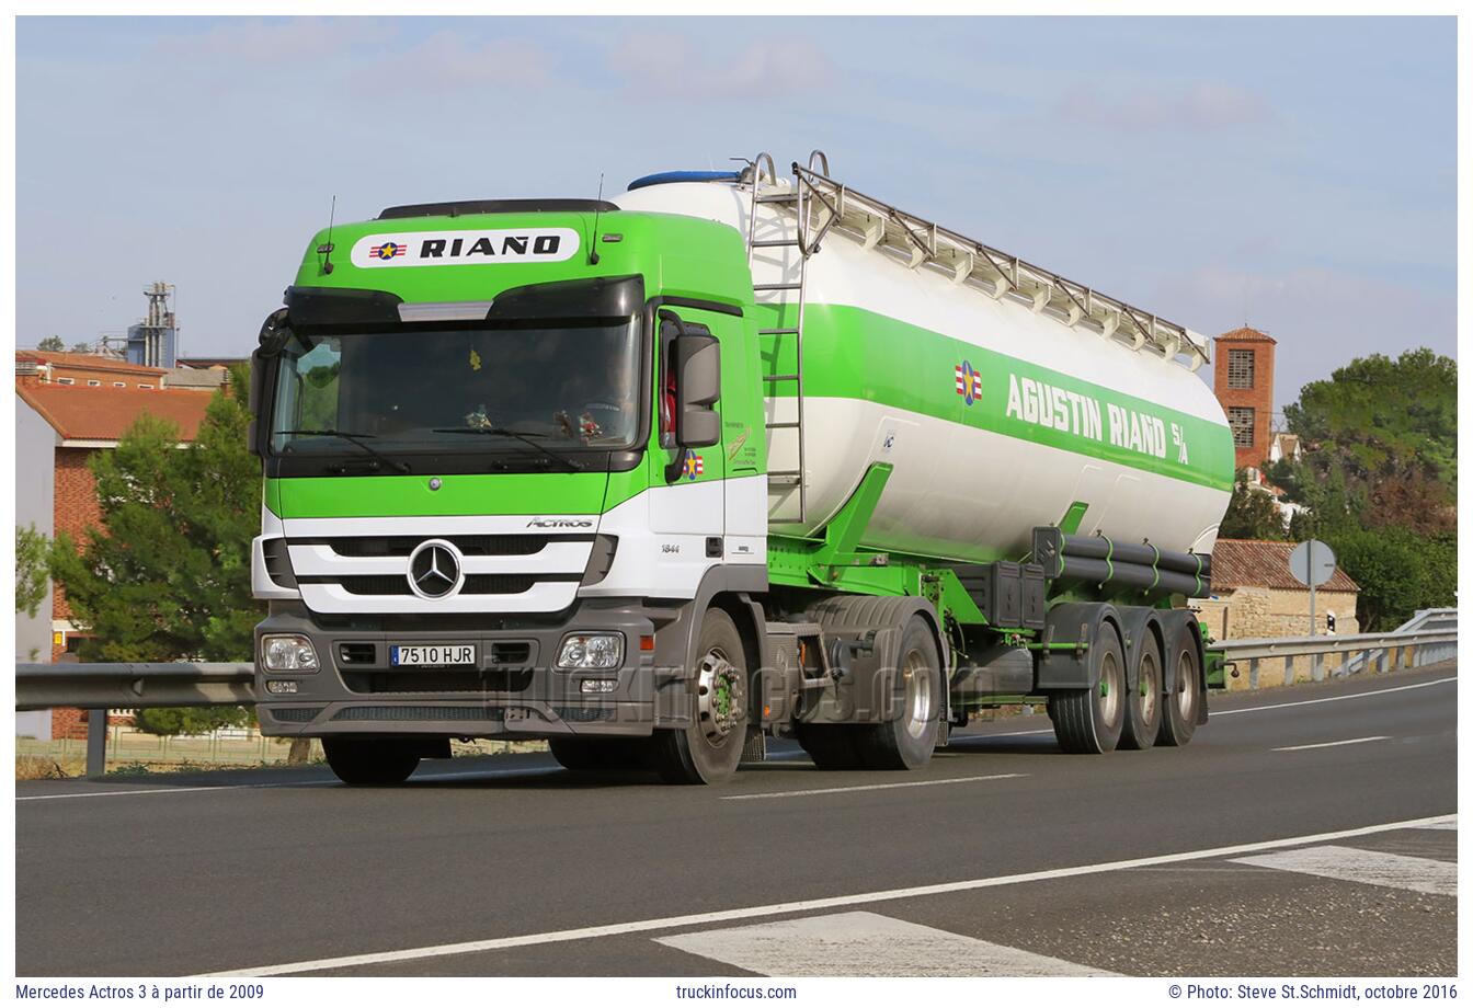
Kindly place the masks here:
POLYGON ((573 228, 405 231, 358 238, 349 258, 361 269, 564 262, 577 255, 579 244, 573 228))

